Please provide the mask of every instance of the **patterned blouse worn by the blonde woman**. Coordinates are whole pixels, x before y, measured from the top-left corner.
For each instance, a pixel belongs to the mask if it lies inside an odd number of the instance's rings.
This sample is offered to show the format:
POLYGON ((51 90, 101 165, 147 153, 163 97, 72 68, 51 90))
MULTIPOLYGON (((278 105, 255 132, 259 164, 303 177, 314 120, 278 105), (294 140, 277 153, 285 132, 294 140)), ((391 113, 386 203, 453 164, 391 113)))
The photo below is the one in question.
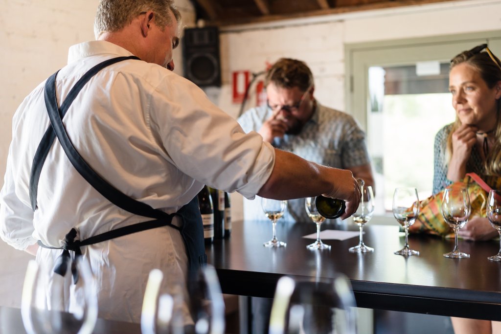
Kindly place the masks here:
MULTIPOLYGON (((448 161, 445 154, 447 147, 447 137, 452 129, 452 124, 444 126, 435 136, 434 145, 434 167, 433 167, 433 194, 440 192, 442 189, 452 183, 447 179, 448 161)), ((480 152, 476 146, 471 149, 471 155, 466 162, 466 173, 477 173, 479 175, 485 174, 485 167, 483 165, 480 152)))

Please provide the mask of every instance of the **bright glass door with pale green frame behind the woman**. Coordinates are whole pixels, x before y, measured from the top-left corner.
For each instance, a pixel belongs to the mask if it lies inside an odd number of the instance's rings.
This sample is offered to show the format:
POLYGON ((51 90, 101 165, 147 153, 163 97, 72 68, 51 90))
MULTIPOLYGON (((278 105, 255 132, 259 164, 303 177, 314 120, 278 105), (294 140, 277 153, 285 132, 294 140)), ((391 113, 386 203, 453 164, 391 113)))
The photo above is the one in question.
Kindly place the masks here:
MULTIPOLYGON (((346 46, 347 108, 367 133, 376 181, 376 216, 391 213, 393 191, 414 186, 431 195, 435 134, 455 119, 448 93, 449 60, 496 33, 346 46)), ((377 217, 374 217, 377 220, 377 217)), ((373 220, 374 220, 373 218, 373 220)))

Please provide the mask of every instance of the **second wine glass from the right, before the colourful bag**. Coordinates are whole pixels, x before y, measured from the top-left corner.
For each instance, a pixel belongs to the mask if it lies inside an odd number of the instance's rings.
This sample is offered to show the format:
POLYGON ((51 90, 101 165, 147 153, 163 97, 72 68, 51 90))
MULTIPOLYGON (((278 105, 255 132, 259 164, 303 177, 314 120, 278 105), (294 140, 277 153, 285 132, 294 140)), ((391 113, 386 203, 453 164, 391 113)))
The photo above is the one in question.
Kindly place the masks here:
POLYGON ((442 215, 445 222, 454 230, 454 249, 445 257, 469 257, 469 254, 459 251, 457 247, 457 231, 468 221, 471 213, 468 189, 462 187, 446 188, 442 198, 442 215))

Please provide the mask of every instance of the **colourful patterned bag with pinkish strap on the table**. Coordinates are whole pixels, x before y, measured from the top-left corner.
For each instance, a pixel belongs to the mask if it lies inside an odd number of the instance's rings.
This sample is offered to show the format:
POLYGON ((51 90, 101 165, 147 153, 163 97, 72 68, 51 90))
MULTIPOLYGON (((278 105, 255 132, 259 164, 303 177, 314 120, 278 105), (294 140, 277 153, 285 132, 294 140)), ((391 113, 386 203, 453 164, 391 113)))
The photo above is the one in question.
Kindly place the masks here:
MULTIPOLYGON (((468 188, 471 203, 470 218, 485 217, 485 208, 489 190, 501 188, 501 177, 484 176, 467 173, 461 181, 454 182, 449 187, 462 186, 468 188)), ((445 189, 444 189, 445 190, 445 189)), ((428 233, 453 238, 454 232, 442 216, 442 197, 444 190, 432 195, 419 203, 419 214, 416 221, 409 227, 410 233, 428 233)))

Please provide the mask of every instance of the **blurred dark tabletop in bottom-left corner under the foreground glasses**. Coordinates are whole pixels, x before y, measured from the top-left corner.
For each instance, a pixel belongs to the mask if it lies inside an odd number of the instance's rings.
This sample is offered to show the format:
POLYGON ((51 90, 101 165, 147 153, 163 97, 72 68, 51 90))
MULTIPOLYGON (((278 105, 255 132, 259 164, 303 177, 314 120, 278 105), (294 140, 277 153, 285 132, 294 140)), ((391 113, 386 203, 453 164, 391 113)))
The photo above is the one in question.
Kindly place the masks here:
MULTIPOLYGON (((97 319, 94 334, 141 334, 138 323, 97 319)), ((26 334, 19 308, 0 306, 0 334, 26 334)))

